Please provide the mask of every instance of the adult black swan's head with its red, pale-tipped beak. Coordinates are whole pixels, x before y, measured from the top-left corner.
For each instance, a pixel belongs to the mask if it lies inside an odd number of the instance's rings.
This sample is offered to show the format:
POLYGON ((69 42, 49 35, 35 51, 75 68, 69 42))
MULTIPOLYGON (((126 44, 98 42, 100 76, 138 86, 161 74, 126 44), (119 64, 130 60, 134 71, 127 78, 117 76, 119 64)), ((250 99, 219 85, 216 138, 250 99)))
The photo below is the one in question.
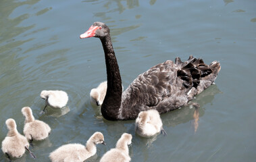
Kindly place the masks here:
POLYGON ((84 34, 80 35, 80 38, 104 38, 109 34, 109 27, 103 22, 95 22, 84 34))

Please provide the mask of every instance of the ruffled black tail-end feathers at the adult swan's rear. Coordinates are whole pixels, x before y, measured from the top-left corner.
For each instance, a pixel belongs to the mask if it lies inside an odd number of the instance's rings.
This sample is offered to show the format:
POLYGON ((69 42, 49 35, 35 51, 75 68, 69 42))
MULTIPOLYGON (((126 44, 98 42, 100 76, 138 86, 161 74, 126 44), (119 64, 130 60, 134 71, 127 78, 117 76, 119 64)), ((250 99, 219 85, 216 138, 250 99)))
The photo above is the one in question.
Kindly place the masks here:
POLYGON ((177 76, 184 80, 185 88, 195 87, 199 92, 208 88, 220 72, 220 63, 213 61, 210 65, 203 62, 203 59, 197 59, 190 55, 187 61, 180 61, 180 58, 175 59, 175 64, 178 67, 177 76))

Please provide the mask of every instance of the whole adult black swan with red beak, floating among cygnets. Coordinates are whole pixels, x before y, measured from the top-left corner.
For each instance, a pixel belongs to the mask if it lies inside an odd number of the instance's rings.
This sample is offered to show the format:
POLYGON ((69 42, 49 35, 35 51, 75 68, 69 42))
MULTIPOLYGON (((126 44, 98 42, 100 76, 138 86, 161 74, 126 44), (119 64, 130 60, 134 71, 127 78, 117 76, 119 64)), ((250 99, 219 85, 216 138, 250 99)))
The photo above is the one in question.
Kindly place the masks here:
POLYGON ((203 59, 192 55, 182 62, 167 60, 140 74, 122 92, 122 80, 111 43, 109 28, 103 22, 95 22, 80 38, 100 38, 107 67, 107 94, 101 105, 101 113, 108 120, 136 119, 140 111, 156 109, 166 113, 187 105, 205 88, 208 88, 220 72, 220 63, 206 65, 203 59))

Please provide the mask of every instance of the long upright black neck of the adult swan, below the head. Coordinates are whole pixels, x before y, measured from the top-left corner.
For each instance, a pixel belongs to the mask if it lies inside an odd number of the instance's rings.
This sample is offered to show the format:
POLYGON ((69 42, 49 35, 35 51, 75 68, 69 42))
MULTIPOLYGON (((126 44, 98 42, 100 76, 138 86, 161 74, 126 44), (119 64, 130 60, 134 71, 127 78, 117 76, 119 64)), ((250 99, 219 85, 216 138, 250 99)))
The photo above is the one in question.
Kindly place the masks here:
POLYGON ((101 106, 101 113, 105 119, 116 120, 118 119, 118 110, 122 101, 122 80, 110 34, 101 38, 101 43, 107 68, 107 93, 101 106))

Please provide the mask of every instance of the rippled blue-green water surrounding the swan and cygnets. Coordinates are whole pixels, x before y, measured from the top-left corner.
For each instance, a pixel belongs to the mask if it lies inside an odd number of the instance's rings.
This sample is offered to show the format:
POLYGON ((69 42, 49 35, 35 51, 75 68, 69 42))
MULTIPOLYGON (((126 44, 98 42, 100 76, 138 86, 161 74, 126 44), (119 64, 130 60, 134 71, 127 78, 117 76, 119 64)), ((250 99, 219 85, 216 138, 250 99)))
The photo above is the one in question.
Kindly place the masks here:
MULTIPOLYGON (((132 134, 132 161, 255 161, 255 1, 0 1, 0 140, 14 118, 22 133, 22 107, 52 133, 15 161, 49 161, 62 144, 84 144, 96 131, 88 161, 99 161, 122 133, 132 134), (91 88, 106 80, 98 38, 80 40, 93 22, 111 29, 124 88, 153 65, 175 57, 220 61, 216 84, 197 96, 199 111, 182 107, 161 115, 168 136, 140 138, 134 121, 106 121, 89 101, 91 88), (65 90, 66 112, 47 108, 41 90, 65 90), (66 113, 63 115, 63 113, 66 113)), ((8 161, 0 152, 0 161, 8 161)))

